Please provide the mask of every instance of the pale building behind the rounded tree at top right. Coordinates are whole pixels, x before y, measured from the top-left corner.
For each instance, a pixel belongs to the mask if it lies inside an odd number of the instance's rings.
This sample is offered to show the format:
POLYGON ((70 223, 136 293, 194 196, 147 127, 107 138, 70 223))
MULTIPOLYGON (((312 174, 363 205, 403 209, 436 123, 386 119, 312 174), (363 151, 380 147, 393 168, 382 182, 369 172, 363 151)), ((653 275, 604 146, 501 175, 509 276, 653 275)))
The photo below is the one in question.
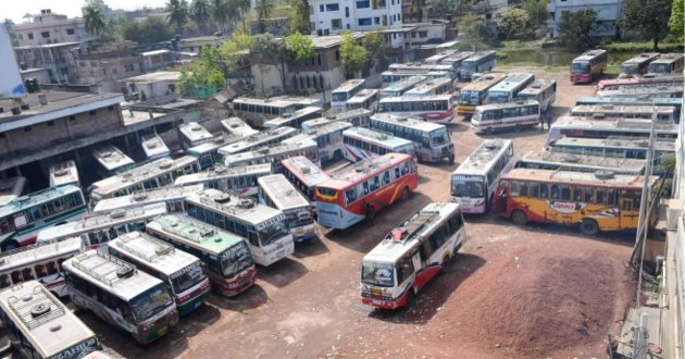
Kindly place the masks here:
POLYGON ((547 4, 547 21, 550 38, 559 37, 558 26, 564 11, 591 9, 597 13, 597 26, 593 36, 614 37, 619 33, 616 21, 623 15, 623 0, 550 0, 547 4))

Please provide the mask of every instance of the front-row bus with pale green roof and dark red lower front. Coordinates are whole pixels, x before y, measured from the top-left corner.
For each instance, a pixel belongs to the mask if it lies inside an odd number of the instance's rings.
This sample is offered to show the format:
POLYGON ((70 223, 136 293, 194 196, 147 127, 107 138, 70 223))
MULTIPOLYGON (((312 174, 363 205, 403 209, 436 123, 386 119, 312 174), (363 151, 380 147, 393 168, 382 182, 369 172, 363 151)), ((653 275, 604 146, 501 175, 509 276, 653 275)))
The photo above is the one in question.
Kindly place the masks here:
POLYGON ((211 286, 222 296, 237 296, 254 284, 257 269, 242 237, 186 214, 159 216, 146 231, 199 258, 211 286))

